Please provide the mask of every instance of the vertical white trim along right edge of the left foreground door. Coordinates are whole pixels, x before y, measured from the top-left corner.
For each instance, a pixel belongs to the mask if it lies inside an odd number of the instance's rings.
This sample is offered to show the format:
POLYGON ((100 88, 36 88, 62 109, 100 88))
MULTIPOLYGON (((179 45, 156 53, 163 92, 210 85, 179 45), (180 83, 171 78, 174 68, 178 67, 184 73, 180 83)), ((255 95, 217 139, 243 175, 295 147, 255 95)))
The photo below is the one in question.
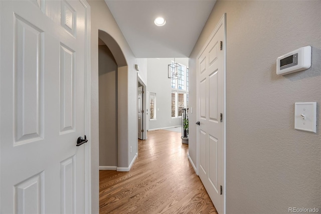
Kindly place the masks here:
POLYGON ((85 8, 85 213, 91 213, 91 98, 90 98, 90 6, 86 0, 79 0, 85 8))

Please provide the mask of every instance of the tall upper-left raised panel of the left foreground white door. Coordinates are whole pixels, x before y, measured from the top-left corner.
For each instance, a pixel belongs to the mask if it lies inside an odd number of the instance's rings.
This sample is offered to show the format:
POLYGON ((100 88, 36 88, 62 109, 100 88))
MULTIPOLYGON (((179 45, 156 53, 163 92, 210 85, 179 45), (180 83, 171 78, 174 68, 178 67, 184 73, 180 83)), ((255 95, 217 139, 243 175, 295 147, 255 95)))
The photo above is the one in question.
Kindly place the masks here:
POLYGON ((43 31, 15 14, 15 145, 43 138, 43 31))

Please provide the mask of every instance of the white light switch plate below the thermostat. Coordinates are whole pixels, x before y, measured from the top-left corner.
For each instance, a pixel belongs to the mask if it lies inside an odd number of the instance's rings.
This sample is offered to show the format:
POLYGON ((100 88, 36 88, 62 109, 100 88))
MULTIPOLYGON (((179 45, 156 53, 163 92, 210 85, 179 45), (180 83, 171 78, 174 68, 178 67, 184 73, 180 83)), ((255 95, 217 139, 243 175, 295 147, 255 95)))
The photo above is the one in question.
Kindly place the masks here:
POLYGON ((316 133, 316 102, 295 103, 294 128, 316 133))

